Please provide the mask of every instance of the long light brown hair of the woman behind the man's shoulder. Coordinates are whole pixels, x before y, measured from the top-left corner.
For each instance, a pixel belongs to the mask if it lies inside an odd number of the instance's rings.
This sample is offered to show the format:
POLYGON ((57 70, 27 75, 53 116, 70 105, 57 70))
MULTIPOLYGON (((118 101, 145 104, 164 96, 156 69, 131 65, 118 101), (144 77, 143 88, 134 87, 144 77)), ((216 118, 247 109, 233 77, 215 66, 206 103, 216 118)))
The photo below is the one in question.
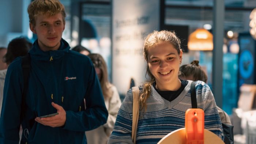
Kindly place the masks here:
POLYGON ((110 89, 112 85, 108 80, 108 69, 104 58, 97 53, 89 54, 88 57, 91 58, 95 68, 101 69, 101 79, 99 79, 99 82, 101 83, 103 96, 105 99, 110 98, 113 95, 113 91, 110 89))

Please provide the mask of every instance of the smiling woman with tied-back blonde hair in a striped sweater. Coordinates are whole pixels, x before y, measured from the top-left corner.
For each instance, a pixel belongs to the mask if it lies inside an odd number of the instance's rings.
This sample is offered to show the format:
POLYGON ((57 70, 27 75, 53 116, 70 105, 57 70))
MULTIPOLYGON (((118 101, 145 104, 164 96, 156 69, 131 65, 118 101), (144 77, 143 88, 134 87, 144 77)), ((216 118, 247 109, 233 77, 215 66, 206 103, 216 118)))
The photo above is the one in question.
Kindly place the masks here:
MULTIPOLYGON (((144 58, 150 79, 140 86, 140 111, 136 144, 156 144, 166 134, 185 127, 185 111, 191 108, 190 80, 178 78, 182 60, 180 39, 170 31, 153 31, 144 42, 144 58)), ((197 105, 204 110, 205 129, 223 139, 214 97, 202 81, 196 83, 197 105)), ((132 144, 132 90, 118 111, 109 144, 132 144)))

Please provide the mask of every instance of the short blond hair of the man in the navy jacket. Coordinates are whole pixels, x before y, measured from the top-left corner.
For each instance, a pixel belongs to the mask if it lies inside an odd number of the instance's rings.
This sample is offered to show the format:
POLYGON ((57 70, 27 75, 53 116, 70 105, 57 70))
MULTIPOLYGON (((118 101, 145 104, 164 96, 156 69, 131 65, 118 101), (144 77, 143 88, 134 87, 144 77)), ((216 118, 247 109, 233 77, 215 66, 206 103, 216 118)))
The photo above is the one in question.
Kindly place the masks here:
POLYGON ((39 14, 53 16, 61 12, 63 22, 66 17, 64 5, 59 0, 34 0, 29 4, 27 12, 29 13, 29 22, 33 25, 35 25, 35 17, 39 14))

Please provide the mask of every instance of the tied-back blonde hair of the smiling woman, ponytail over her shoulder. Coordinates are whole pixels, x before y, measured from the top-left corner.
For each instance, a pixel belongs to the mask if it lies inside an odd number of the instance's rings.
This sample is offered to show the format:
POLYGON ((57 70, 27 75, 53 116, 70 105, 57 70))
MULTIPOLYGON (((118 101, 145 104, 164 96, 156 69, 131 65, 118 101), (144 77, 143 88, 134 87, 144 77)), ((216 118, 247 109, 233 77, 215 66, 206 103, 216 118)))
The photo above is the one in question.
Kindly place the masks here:
MULTIPOLYGON (((174 32, 166 31, 166 30, 162 30, 162 31, 155 30, 146 37, 144 42, 143 55, 146 61, 148 61, 148 58, 147 58, 148 49, 152 48, 153 46, 157 45, 160 42, 167 42, 172 44, 174 48, 177 50, 178 54, 180 54, 181 41, 174 32)), ((141 109, 145 108, 144 109, 145 111, 147 109, 146 101, 148 96, 150 96, 150 93, 151 93, 151 85, 155 82, 155 77, 150 72, 148 65, 147 65, 146 75, 148 75, 150 79, 143 84, 143 92, 142 94, 140 94, 140 99, 139 99, 141 109)))

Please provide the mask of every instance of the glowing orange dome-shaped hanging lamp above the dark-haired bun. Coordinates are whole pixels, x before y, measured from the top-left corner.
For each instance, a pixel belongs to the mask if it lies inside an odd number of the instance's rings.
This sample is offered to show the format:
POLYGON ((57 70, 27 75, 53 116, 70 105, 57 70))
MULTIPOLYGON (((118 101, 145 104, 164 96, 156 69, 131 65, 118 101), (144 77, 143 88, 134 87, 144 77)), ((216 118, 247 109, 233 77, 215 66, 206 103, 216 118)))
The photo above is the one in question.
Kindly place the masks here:
POLYGON ((196 29, 188 37, 189 50, 213 50, 213 36, 206 29, 196 29))

